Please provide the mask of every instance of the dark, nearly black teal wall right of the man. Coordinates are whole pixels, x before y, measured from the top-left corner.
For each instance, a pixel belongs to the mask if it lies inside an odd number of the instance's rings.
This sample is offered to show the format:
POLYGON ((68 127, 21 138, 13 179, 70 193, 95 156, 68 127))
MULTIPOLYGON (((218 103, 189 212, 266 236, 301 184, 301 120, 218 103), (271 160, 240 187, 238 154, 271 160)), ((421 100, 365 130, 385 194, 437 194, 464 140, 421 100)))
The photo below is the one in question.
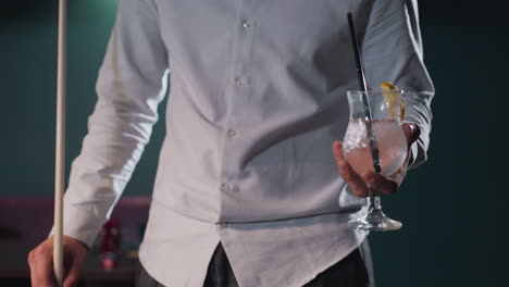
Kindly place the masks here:
POLYGON ((508 25, 482 15, 422 17, 430 159, 383 198, 404 228, 370 238, 378 287, 507 285, 508 25))

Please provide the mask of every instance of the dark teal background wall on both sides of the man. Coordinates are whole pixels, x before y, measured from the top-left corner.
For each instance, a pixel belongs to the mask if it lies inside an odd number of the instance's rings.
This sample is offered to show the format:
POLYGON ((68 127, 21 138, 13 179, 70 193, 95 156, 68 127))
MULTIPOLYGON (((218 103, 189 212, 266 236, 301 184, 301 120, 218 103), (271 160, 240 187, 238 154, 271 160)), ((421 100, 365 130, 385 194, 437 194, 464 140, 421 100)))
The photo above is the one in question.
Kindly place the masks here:
MULTIPOLYGON (((495 1, 420 2, 436 86, 429 161, 384 209, 400 232, 370 237, 378 287, 500 286, 509 255, 505 112, 509 27, 495 1)), ((78 154, 116 0, 71 1, 66 170, 78 154)), ((0 7, 0 197, 52 196, 57 1, 0 7)), ((161 104, 160 107, 163 107, 161 104)), ((164 126, 126 196, 149 195, 164 126)))

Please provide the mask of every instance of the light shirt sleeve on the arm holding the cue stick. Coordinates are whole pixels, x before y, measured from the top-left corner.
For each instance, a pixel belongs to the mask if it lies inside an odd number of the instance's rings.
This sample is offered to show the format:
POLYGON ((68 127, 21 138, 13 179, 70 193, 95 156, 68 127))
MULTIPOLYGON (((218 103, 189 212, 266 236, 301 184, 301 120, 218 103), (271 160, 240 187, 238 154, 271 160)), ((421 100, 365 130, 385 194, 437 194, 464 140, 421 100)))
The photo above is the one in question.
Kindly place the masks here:
POLYGON ((63 229, 88 247, 129 180, 166 91, 166 49, 151 1, 119 1, 97 80, 98 100, 72 164, 63 229))

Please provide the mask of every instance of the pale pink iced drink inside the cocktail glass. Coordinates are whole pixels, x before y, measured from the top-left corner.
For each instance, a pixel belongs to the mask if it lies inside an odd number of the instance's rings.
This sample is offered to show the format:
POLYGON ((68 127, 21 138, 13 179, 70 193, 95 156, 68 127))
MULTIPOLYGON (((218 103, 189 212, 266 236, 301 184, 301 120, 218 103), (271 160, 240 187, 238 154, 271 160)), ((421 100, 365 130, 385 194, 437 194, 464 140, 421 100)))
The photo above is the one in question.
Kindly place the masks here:
MULTIPOLYGON (((394 120, 375 120, 371 122, 376 146, 378 148, 382 175, 395 173, 407 158, 407 139, 401 126, 394 120)), ((351 120, 345 135, 343 151, 353 171, 360 175, 374 172, 367 123, 351 120)))

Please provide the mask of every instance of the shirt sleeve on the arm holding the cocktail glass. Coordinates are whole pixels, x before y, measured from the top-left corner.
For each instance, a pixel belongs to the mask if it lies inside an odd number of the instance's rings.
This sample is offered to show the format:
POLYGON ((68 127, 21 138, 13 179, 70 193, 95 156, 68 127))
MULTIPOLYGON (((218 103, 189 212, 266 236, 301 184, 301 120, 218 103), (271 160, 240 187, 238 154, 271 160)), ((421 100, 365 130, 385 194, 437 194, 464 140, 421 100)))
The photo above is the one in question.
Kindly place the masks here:
POLYGON ((392 82, 402 90, 415 91, 405 98, 404 121, 421 128, 421 137, 411 147, 414 161, 410 167, 421 164, 430 142, 435 88, 423 63, 417 0, 373 1, 362 55, 370 87, 392 82))

